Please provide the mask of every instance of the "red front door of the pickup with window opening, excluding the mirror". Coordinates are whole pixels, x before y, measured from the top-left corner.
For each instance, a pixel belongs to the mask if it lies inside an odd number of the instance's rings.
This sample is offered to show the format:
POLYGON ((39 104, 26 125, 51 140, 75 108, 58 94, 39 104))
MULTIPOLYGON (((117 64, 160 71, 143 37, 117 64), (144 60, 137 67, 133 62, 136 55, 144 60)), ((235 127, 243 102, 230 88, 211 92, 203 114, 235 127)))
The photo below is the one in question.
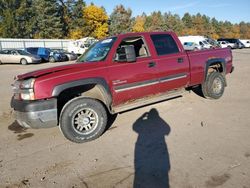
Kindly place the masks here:
POLYGON ((136 62, 117 62, 113 59, 109 67, 109 80, 112 83, 113 105, 119 105, 145 96, 158 93, 156 84, 157 67, 152 62, 151 52, 143 36, 124 38, 118 41, 116 49, 133 45, 136 62))

